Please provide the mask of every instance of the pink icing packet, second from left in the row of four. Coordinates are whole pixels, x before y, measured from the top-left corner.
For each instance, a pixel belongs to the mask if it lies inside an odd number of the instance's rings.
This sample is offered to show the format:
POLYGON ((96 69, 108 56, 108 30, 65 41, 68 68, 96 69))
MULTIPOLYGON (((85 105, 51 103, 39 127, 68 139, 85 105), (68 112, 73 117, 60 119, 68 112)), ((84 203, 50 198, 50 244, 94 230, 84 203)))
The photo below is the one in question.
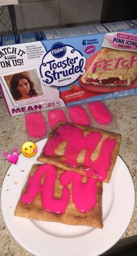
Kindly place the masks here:
POLYGON ((66 115, 63 111, 63 109, 55 109, 48 112, 48 120, 49 120, 49 126, 53 130, 57 123, 59 122, 67 122, 66 115))

